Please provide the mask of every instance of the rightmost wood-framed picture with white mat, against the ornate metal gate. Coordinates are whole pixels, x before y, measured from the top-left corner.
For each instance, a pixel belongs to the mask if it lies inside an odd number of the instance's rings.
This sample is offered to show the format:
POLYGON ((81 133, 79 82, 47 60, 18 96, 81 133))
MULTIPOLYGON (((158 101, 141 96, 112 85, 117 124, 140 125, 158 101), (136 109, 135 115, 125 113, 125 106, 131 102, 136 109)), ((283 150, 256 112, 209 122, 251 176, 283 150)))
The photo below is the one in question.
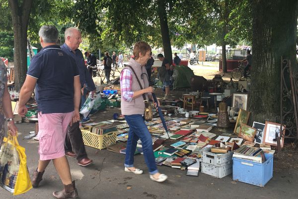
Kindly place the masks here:
MULTIPOLYGON (((265 135, 264 135, 264 142, 265 144, 269 144, 271 146, 277 146, 276 140, 276 133, 280 136, 280 128, 281 124, 274 123, 274 122, 265 122, 265 135)), ((283 126, 283 135, 285 135, 286 126, 283 126)), ((284 137, 281 138, 281 147, 284 147, 284 137)))

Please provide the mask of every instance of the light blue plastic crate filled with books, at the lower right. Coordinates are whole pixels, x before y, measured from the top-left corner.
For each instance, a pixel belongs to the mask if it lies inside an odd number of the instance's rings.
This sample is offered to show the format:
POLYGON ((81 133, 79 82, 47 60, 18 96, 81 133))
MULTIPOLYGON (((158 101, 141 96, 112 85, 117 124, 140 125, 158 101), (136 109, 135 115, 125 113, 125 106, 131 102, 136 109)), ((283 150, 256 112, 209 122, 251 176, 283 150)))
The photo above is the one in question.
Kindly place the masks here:
POLYGON ((233 157, 233 180, 264 187, 273 177, 273 155, 266 154, 264 163, 233 157))

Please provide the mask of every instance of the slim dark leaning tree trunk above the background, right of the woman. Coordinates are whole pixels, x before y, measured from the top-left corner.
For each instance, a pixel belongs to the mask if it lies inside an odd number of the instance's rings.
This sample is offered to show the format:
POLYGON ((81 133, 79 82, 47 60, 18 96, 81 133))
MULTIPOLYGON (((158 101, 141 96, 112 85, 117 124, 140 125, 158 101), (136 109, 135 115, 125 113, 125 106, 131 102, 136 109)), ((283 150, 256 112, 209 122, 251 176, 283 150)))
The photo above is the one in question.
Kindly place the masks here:
POLYGON ((172 64, 172 49, 171 49, 171 41, 170 41, 170 35, 169 35, 169 27, 167 23, 167 14, 165 10, 165 1, 164 0, 158 0, 158 17, 160 21, 160 31, 161 31, 161 37, 162 37, 162 46, 163 46, 163 52, 164 57, 172 64))

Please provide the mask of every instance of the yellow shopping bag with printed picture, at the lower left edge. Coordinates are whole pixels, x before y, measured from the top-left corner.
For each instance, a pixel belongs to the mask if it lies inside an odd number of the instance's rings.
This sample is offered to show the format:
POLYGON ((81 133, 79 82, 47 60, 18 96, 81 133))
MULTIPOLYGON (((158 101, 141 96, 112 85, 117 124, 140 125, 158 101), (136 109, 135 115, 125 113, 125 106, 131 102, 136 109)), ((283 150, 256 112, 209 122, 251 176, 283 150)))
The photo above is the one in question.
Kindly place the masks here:
POLYGON ((8 131, 0 148, 0 186, 13 195, 23 194, 32 188, 25 148, 21 147, 16 136, 8 131))

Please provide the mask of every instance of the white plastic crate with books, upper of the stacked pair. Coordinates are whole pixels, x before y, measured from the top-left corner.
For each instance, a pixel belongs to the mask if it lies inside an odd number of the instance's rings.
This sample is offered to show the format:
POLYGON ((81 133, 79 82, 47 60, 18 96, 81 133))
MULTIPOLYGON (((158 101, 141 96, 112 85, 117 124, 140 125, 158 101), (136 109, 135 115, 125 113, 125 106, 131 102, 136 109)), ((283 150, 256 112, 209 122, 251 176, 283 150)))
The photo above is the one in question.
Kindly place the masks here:
POLYGON ((203 162, 207 164, 212 164, 215 166, 223 166, 228 162, 232 162, 233 151, 227 153, 212 153, 210 152, 211 149, 208 151, 203 151, 203 162))

